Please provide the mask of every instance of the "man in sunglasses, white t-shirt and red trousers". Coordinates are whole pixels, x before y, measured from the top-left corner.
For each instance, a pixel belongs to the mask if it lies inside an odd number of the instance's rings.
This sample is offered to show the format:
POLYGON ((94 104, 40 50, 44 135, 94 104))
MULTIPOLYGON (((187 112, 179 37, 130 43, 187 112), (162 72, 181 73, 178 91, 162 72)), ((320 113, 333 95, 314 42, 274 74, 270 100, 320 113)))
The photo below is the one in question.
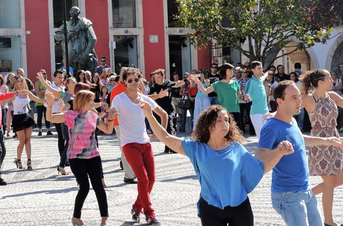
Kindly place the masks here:
POLYGON ((140 100, 152 105, 152 110, 161 117, 161 125, 167 127, 167 113, 150 97, 138 92, 139 70, 127 68, 123 73, 123 83, 127 90, 117 95, 112 107, 119 112, 121 146, 126 160, 138 179, 138 197, 132 205, 132 221, 139 222, 143 209, 145 220, 149 225, 160 225, 152 209, 150 192, 155 181, 154 153, 145 127, 145 116, 141 110, 140 100))

